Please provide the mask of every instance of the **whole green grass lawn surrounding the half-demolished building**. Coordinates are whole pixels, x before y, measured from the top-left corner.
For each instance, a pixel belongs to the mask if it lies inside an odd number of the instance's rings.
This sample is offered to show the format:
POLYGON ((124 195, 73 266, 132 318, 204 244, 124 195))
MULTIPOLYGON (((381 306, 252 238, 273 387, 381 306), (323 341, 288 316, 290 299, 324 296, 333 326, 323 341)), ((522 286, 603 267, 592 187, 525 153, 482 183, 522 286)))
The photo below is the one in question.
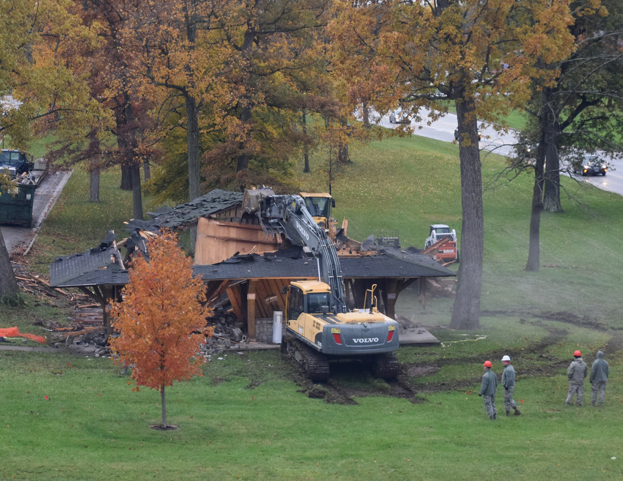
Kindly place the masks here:
MULTIPOLYGON (((310 174, 298 166, 302 190, 327 190, 327 157, 315 153, 310 174)), ((363 240, 389 229, 399 232, 403 246, 422 247, 433 223, 449 224, 460 235, 458 146, 390 138, 352 145, 351 157, 354 163, 338 166, 333 181, 335 214, 339 222, 349 219, 351 237, 363 240)), ((488 156, 483 178, 502 166, 501 158, 488 156)), ((619 479, 623 351, 616 351, 623 345, 623 261, 616 239, 623 236, 622 198, 563 179, 583 205, 563 199, 564 214, 543 215, 541 264, 551 267, 528 273, 532 180, 525 174, 485 193, 481 305, 487 313, 480 329, 441 327, 450 319, 449 298, 432 298, 424 310, 412 292, 399 296, 397 312, 433 326, 443 341, 398 351, 404 369, 432 366, 426 376, 401 374, 401 385, 411 386, 419 402, 392 395, 391 383, 346 368, 326 389, 367 386, 387 395, 328 404, 300 392, 305 389, 277 351, 233 351, 222 361, 214 356, 204 376, 168 388, 169 422, 179 429, 158 432, 149 425, 159 422, 159 394, 131 392, 129 378, 110 360, 0 351, 0 477, 619 479), (604 346, 611 362, 606 405, 589 406, 586 383, 585 405, 565 407, 564 366, 571 353, 580 349, 590 362, 604 346), (505 351, 513 353, 524 415, 491 422, 474 394, 475 380, 487 358, 500 373, 505 351)), ((55 255, 97 245, 108 229, 120 232, 131 217, 131 196, 118 184, 118 173, 105 174, 102 204, 89 204, 87 175, 76 170, 40 231, 31 266, 45 270, 55 255)), ((145 211, 157 207, 150 199, 145 204, 145 211)), ((31 298, 19 310, 0 306, 0 318, 40 333, 33 321, 64 315, 35 303, 31 298)))

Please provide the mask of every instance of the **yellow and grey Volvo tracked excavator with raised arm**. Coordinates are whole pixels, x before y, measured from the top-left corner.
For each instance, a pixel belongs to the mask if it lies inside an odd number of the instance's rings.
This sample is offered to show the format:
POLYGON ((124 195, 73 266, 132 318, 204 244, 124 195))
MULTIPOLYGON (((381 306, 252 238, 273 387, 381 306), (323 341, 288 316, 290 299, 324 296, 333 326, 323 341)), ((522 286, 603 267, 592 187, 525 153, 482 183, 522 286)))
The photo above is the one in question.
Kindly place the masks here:
POLYGON ((329 376, 329 361, 362 358, 372 362, 374 373, 396 378, 398 323, 378 311, 374 287, 367 309, 348 312, 344 300, 340 259, 335 245, 319 227, 297 195, 276 195, 270 189, 247 190, 242 199, 247 214, 257 216, 266 234, 285 234, 295 245, 315 257, 318 280, 290 283, 286 298, 286 334, 283 348, 312 381, 329 376))

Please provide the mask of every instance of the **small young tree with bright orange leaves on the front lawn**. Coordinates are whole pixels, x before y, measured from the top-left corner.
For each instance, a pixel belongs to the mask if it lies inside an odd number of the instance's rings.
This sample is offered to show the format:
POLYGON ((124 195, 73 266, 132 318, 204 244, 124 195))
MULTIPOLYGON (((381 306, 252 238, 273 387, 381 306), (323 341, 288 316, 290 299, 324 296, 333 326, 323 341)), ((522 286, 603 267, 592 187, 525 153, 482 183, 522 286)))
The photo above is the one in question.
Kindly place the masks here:
POLYGON ((193 279, 193 262, 178 247, 178 238, 165 231, 148 242, 149 260, 137 255, 130 270, 125 300, 112 303, 111 323, 120 333, 110 341, 118 362, 134 364, 136 387, 160 391, 162 427, 166 424, 164 388, 173 381, 201 375, 204 358, 199 348, 212 335, 206 328, 211 310, 200 278, 193 279))

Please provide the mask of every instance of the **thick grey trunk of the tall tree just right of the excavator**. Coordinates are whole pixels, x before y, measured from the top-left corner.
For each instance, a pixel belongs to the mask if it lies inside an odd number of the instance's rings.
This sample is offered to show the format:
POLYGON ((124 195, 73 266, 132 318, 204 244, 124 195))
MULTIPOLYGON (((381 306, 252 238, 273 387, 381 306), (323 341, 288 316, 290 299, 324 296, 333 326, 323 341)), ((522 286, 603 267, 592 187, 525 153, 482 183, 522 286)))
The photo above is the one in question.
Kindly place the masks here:
POLYGON ((484 216, 482 209, 482 172, 478 149, 478 123, 473 100, 457 100, 457 118, 461 164, 461 231, 459 282, 450 327, 477 329, 480 326, 480 290, 484 251, 484 216), (466 139, 469 142, 466 142, 466 139), (465 140, 463 140, 465 139, 465 140), (469 143, 470 145, 466 145, 469 143))

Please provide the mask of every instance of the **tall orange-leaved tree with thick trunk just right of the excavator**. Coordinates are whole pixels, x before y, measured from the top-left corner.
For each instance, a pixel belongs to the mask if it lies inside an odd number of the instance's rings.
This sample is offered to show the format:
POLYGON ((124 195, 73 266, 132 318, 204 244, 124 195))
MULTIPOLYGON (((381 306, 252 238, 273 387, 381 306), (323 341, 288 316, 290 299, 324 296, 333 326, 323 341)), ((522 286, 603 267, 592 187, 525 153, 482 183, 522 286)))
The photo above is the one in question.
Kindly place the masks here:
POLYGON ((333 65, 351 106, 400 106, 431 120, 454 103, 459 127, 462 235, 450 326, 480 325, 484 252, 478 120, 496 121, 530 98, 530 79, 573 49, 570 0, 336 0, 333 65), (427 110, 426 110, 427 109, 427 110))

